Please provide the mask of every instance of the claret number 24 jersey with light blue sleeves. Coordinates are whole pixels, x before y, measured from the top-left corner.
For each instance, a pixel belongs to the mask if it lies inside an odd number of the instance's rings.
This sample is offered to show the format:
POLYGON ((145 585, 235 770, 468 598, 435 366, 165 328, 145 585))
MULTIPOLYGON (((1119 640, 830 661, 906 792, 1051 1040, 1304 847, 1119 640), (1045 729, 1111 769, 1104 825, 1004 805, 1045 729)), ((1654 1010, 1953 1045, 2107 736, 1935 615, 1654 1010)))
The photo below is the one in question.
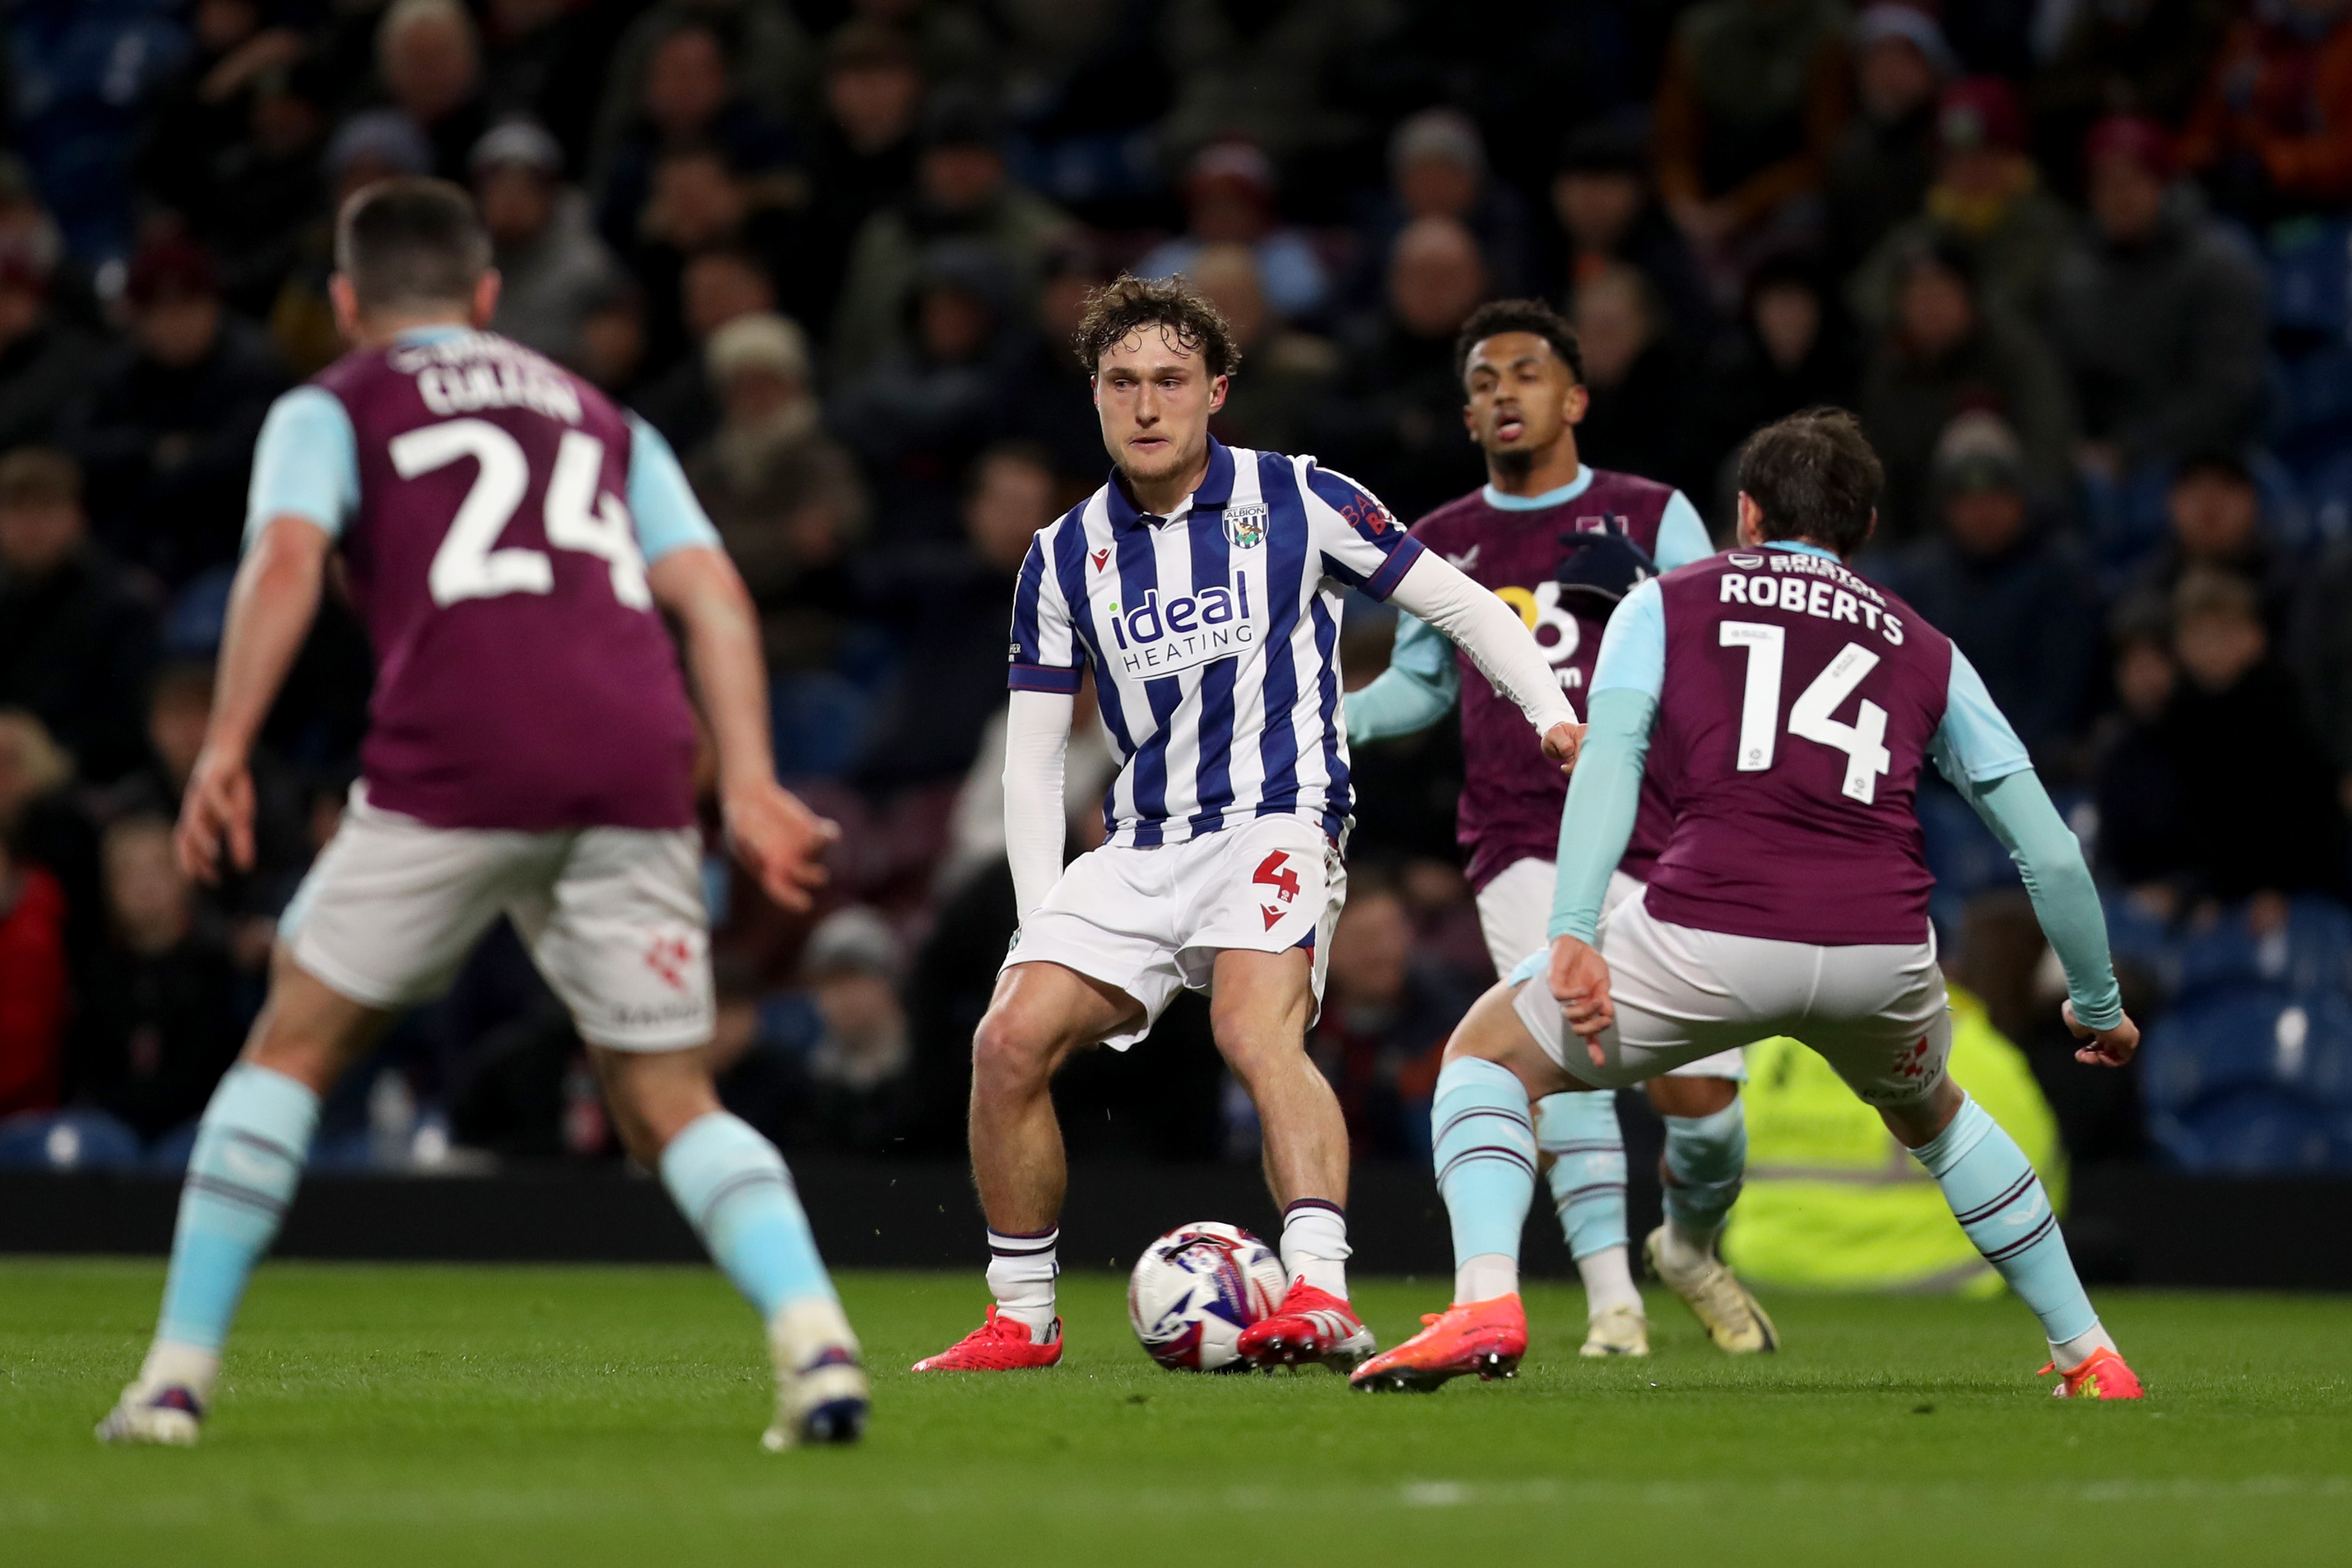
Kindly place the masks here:
POLYGON ((717 545, 668 444, 487 331, 402 334, 270 409, 247 536, 341 543, 376 654, 369 804, 433 827, 687 827, 694 719, 647 564, 717 545))

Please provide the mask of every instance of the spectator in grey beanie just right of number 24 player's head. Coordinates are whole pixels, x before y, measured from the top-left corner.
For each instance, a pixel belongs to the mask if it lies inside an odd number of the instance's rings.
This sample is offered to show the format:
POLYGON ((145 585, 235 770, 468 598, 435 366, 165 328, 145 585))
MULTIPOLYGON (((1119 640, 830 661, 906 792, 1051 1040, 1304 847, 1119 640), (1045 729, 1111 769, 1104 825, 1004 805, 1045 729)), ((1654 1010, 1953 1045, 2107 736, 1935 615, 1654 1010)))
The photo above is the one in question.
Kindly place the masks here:
POLYGON ((539 125, 510 120, 473 150, 473 193, 499 268, 494 327, 579 367, 581 324, 612 296, 621 263, 588 226, 588 202, 562 183, 564 150, 539 125))

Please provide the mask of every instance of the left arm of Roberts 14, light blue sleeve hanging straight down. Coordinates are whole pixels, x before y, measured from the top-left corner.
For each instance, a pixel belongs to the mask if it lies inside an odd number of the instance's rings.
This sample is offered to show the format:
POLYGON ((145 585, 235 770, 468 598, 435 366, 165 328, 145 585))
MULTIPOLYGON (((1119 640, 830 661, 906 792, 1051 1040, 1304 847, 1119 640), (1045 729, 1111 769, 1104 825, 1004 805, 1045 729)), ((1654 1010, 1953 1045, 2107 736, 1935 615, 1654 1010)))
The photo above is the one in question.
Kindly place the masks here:
POLYGON ((1585 705, 1585 752, 1569 778, 1559 813, 1559 875, 1552 884, 1552 961, 1548 983, 1569 1027, 1585 1037, 1599 1065, 1597 1037, 1616 1018, 1609 964, 1592 947, 1609 872, 1625 858, 1642 806, 1642 769, 1665 684, 1665 597, 1642 583, 1602 632, 1585 705))

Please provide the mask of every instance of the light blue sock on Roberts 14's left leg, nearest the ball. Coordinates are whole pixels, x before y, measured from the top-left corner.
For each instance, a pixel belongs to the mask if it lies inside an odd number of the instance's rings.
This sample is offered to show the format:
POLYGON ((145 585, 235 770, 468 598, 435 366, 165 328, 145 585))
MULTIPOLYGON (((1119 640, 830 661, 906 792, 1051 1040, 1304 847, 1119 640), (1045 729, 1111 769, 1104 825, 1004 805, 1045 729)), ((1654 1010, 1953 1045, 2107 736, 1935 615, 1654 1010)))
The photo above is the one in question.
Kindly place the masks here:
POLYGON ((1437 1192, 1454 1220, 1454 1300, 1508 1295, 1519 1288, 1519 1232, 1536 1197, 1536 1124, 1526 1114, 1526 1084, 1496 1063, 1451 1060, 1437 1074, 1430 1126, 1437 1131, 1437 1192), (1482 1274, 1486 1284, 1465 1293, 1465 1265, 1472 1260, 1489 1269, 1482 1274))

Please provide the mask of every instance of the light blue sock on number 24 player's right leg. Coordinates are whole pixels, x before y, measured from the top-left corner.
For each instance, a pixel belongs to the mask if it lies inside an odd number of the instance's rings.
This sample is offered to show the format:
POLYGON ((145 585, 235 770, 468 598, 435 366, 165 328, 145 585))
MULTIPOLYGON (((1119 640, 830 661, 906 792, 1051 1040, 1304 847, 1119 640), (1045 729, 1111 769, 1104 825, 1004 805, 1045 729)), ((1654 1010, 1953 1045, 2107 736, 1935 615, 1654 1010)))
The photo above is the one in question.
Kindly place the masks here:
POLYGON ((788 1302, 835 1300, 783 1154, 741 1117, 689 1121, 661 1152, 661 1185, 762 1324, 788 1302))

